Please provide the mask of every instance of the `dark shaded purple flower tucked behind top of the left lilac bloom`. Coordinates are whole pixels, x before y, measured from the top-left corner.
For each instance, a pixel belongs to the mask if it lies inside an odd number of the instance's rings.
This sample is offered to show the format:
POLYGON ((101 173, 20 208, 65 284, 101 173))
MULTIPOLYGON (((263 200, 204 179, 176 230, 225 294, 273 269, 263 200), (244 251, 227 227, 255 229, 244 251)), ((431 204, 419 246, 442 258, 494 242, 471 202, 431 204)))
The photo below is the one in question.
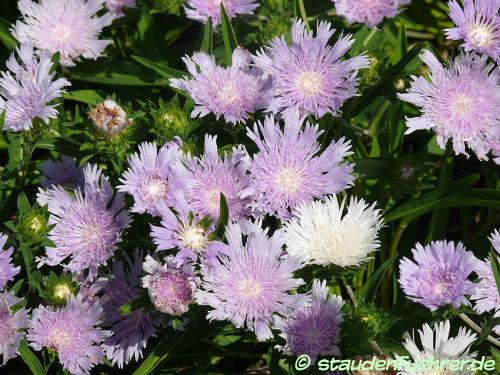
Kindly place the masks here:
POLYGON ((40 165, 43 178, 40 185, 43 188, 60 185, 66 189, 83 189, 85 185, 85 176, 83 167, 76 165, 76 160, 68 156, 62 156, 60 162, 45 160, 40 165))

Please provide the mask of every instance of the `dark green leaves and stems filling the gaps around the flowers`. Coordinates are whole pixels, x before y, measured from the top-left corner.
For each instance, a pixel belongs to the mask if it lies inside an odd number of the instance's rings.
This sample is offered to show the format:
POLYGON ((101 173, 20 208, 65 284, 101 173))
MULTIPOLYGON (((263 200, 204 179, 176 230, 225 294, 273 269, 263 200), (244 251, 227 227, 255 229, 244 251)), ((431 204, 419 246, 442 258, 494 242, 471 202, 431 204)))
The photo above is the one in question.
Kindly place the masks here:
MULTIPOLYGON (((10 24, 19 16, 16 3, 0 2, 0 61, 5 61, 16 45, 9 33, 10 24)), ((97 163, 116 185, 126 156, 145 140, 162 144, 178 135, 187 149, 199 153, 204 134, 210 133, 218 135, 221 151, 234 143, 245 144, 250 152, 255 150, 243 126, 230 127, 211 116, 190 119, 192 103, 168 86, 168 79, 184 70, 181 57, 185 54, 200 48, 211 50, 224 64, 226 50, 231 47, 230 39, 224 43, 221 28, 212 35, 210 28, 187 20, 182 3, 139 0, 137 9, 129 10, 126 17, 106 29, 103 37, 114 41, 106 50, 107 57, 84 61, 71 69, 58 68, 72 86, 61 100, 60 116, 51 122, 50 131, 38 129, 24 136, 0 134, 0 223, 6 223, 1 230, 12 235, 16 263, 24 265, 24 282, 15 288, 19 289, 18 295, 28 297, 28 307, 43 300, 42 275, 34 265, 43 244, 24 239, 19 225, 23 212, 31 212, 35 202, 43 160, 64 154, 80 163, 97 163), (106 97, 116 97, 135 119, 134 126, 119 141, 96 137, 86 115, 106 97)), ((301 16, 298 1, 261 3, 256 16, 232 20, 238 44, 251 52, 274 36, 289 33, 293 17, 301 16)), ((486 237, 500 224, 498 168, 493 162, 480 163, 474 156, 452 156, 449 150, 438 148, 431 132, 403 137, 405 116, 418 112, 398 100, 396 94, 408 87, 412 74, 426 73, 419 52, 428 48, 444 60, 457 54, 457 45, 447 41, 442 31, 451 26, 445 1, 413 0, 400 16, 386 20, 378 30, 347 25, 335 16, 330 0, 305 0, 304 5, 311 26, 316 20, 327 20, 338 30, 354 34, 351 55, 366 51, 374 60, 371 68, 362 73, 360 96, 344 104, 341 118, 325 116, 320 126, 325 130, 324 145, 341 136, 351 139, 355 151, 351 159, 356 163, 358 177, 350 194, 377 201, 385 211, 386 225, 381 231, 381 251, 363 270, 306 269, 300 276, 308 281, 326 278, 332 291, 342 293, 346 300, 342 279, 356 292, 360 304, 347 308, 343 325, 341 350, 346 358, 372 354, 369 340, 376 340, 385 353, 403 353, 400 342, 406 331, 444 317, 452 319, 454 328, 463 323, 457 311, 430 313, 407 300, 396 283, 398 261, 394 260, 408 255, 416 242, 444 238, 463 241, 477 257, 485 258, 490 249, 486 237)), ((152 221, 146 215, 134 216, 133 226, 122 242, 127 251, 135 247, 153 250, 148 236, 152 221)), ((487 323, 484 317, 474 316, 472 309, 464 310, 479 325, 487 323)), ((192 322, 183 333, 167 328, 159 332, 139 363, 131 363, 123 371, 104 364, 94 369, 95 373, 293 371, 290 364, 294 359, 287 360, 274 350, 275 341, 256 343, 253 334, 237 331, 229 323, 209 323, 201 308, 193 308, 190 318, 192 322)), ((487 342, 473 349, 491 355, 487 342)), ((39 373, 61 373, 58 366, 51 365, 53 357, 37 356, 41 368, 35 370, 42 371, 39 373)), ((1 373, 26 373, 30 358, 31 354, 25 353, 10 361, 1 373)))

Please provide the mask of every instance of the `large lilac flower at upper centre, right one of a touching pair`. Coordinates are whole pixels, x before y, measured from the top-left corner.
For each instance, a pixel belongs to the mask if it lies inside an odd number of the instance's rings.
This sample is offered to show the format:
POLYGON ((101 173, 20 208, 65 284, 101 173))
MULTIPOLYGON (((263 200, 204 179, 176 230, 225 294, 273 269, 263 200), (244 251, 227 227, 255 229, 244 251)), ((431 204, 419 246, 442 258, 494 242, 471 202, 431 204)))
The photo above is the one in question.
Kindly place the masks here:
POLYGON ((356 95, 358 70, 369 60, 356 56, 341 60, 354 40, 340 36, 330 46, 335 30, 327 22, 319 22, 316 36, 306 31, 302 21, 292 25, 292 44, 285 37, 275 38, 253 61, 272 79, 267 110, 273 113, 296 108, 301 114, 322 117, 337 115, 345 100, 356 95))

